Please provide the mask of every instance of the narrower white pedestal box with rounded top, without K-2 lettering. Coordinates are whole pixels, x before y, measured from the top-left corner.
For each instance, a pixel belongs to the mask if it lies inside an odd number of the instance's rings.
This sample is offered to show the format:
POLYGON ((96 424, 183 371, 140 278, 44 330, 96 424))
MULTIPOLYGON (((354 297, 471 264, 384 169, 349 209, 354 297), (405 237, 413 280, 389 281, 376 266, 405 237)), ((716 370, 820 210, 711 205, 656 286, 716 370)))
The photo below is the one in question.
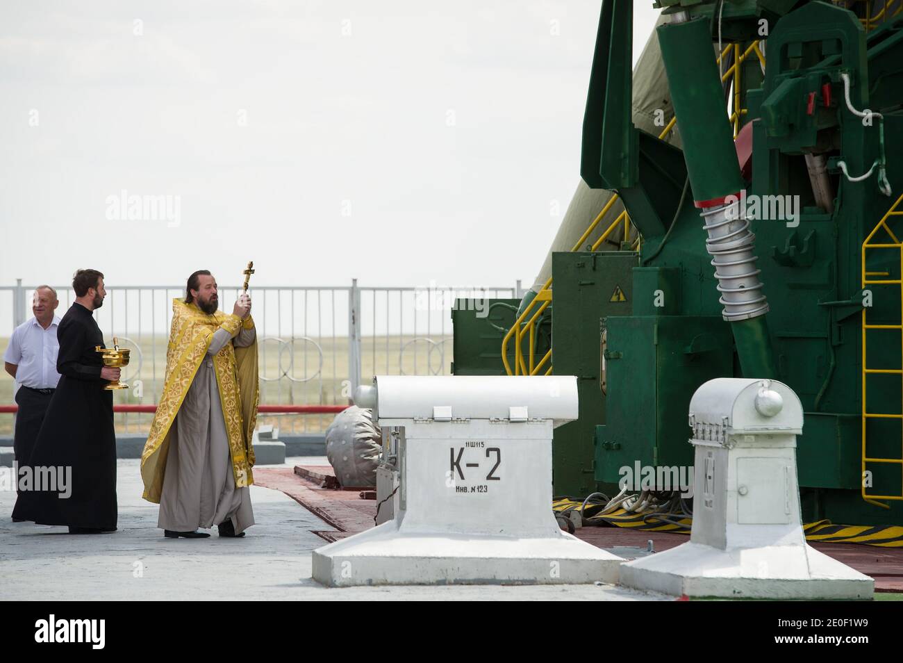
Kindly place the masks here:
POLYGON ((796 483, 803 407, 780 382, 718 378, 690 401, 690 542, 621 566, 628 587, 687 596, 869 599, 874 581, 805 543, 796 483))

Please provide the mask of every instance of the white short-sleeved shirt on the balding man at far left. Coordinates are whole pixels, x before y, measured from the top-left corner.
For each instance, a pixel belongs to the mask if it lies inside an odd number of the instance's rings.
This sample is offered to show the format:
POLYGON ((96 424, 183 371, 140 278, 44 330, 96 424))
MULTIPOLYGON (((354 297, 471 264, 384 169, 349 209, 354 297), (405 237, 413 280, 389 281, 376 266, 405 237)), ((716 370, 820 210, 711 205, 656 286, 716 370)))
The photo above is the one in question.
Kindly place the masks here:
POLYGON ((13 331, 3 360, 15 364, 15 381, 33 389, 55 389, 60 381, 56 370, 60 342, 56 332, 59 316, 54 315, 50 326, 44 329, 36 318, 23 322, 13 331))

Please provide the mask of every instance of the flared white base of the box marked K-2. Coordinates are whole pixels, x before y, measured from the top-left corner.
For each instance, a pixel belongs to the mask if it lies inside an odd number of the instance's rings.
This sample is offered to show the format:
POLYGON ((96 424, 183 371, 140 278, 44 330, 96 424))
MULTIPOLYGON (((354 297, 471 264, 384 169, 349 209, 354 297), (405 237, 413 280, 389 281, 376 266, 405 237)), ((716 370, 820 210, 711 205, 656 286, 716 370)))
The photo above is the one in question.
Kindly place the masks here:
POLYGON ((313 579, 362 584, 616 583, 618 556, 559 530, 550 537, 398 531, 396 521, 313 551, 313 579))

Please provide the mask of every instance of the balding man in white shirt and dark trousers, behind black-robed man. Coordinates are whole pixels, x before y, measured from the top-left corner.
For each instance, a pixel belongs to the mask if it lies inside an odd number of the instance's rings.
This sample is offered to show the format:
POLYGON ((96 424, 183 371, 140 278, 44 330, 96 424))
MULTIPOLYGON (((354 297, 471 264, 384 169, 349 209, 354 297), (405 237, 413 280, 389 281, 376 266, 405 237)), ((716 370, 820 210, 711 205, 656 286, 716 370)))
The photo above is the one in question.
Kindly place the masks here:
POLYGON ((60 318, 53 313, 59 304, 50 285, 39 285, 32 299, 34 317, 15 328, 4 353, 4 368, 18 387, 15 402, 19 412, 15 416, 13 451, 20 471, 28 465, 34 440, 60 381, 56 369, 60 318))

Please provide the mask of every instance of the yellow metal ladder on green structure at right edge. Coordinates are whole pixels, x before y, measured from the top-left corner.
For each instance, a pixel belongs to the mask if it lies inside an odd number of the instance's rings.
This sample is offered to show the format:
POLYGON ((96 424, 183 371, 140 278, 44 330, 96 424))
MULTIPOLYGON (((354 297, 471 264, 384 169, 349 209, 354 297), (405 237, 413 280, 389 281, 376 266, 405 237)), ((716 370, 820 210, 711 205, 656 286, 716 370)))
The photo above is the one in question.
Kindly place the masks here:
MULTIPOLYGON (((890 209, 887 213, 881 218, 881 220, 876 224, 876 226, 869 233, 869 237, 865 238, 865 241, 862 242, 862 289, 865 290, 868 285, 898 285, 900 288, 900 312, 901 316, 903 316, 903 243, 894 235, 893 230, 890 229, 888 225, 888 219, 895 216, 903 216, 903 210, 898 210, 898 206, 900 201, 903 201, 903 195, 901 195, 893 205, 890 206, 890 209), (878 240, 876 235, 879 234, 880 231, 886 233, 887 237, 890 241, 887 240, 878 240), (893 248, 897 249, 900 252, 900 275, 901 278, 873 278, 874 276, 889 276, 889 272, 869 272, 866 271, 866 251, 869 249, 888 249, 893 248)), ((889 509, 890 507, 887 504, 882 504, 877 500, 903 500, 903 484, 901 484, 900 494, 899 495, 871 495, 867 491, 868 487, 866 486, 866 472, 868 472, 868 465, 870 463, 896 463, 900 465, 901 471, 903 471, 903 444, 901 444, 901 457, 900 458, 872 458, 866 452, 866 444, 867 444, 867 430, 868 427, 866 424, 869 419, 899 419, 901 420, 901 425, 903 425, 903 404, 900 406, 900 413, 875 413, 869 412, 868 408, 868 391, 866 390, 866 378, 870 375, 899 375, 903 378, 903 364, 901 364, 898 369, 870 369, 866 365, 866 341, 868 340, 869 331, 872 330, 899 330, 900 331, 900 346, 901 346, 901 358, 903 358, 903 320, 901 320, 898 324, 870 324, 867 317, 867 311, 869 310, 868 306, 862 307, 862 499, 869 502, 870 504, 875 504, 879 507, 883 507, 884 509, 889 509)))

